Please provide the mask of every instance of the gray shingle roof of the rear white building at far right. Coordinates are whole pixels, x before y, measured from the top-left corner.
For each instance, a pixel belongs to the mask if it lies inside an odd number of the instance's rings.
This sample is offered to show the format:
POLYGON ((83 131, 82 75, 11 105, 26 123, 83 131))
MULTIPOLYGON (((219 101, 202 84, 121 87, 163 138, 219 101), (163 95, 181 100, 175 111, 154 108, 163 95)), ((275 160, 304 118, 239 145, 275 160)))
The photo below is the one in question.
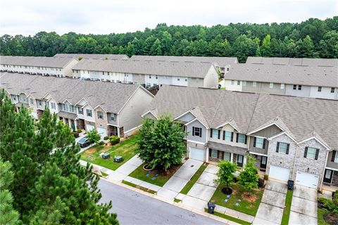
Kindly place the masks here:
POLYGON ((225 79, 338 87, 338 68, 243 63, 233 65, 225 79))

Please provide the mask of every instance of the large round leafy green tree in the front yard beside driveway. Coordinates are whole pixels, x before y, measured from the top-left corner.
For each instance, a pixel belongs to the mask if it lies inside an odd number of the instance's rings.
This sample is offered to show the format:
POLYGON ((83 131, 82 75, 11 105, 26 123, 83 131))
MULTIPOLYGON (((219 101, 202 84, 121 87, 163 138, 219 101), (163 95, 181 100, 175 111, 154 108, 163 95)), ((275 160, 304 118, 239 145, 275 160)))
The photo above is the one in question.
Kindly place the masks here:
POLYGON ((151 167, 167 170, 171 165, 182 162, 185 155, 184 136, 186 133, 169 115, 158 120, 146 119, 139 131, 137 141, 139 158, 149 162, 151 167))

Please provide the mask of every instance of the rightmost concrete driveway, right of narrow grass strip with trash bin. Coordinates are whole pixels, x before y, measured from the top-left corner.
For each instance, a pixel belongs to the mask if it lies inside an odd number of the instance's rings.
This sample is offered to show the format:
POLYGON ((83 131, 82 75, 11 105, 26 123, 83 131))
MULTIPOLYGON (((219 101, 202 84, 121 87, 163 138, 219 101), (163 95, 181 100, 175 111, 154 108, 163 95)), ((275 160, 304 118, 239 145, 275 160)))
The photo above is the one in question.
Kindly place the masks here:
POLYGON ((318 224, 316 189, 294 186, 289 224, 318 224))

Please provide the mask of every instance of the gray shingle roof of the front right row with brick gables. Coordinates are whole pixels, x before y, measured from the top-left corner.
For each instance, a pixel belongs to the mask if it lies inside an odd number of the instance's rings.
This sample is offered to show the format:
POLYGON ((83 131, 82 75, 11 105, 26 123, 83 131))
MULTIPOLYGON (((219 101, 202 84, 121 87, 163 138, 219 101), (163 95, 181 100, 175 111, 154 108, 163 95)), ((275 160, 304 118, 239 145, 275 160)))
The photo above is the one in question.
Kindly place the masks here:
POLYGON ((338 149, 338 101, 163 85, 148 110, 177 117, 196 107, 212 128, 231 120, 249 134, 277 117, 296 141, 315 132, 338 149))

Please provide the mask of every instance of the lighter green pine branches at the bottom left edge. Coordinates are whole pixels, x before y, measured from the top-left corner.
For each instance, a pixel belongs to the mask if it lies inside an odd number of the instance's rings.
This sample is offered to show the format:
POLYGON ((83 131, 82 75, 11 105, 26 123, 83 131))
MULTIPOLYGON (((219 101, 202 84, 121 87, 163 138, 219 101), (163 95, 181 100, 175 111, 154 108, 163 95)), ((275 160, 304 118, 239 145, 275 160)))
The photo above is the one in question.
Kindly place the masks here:
POLYGON ((19 214, 13 209, 13 195, 8 191, 13 181, 11 162, 3 162, 0 158, 0 224, 17 224, 19 214))

